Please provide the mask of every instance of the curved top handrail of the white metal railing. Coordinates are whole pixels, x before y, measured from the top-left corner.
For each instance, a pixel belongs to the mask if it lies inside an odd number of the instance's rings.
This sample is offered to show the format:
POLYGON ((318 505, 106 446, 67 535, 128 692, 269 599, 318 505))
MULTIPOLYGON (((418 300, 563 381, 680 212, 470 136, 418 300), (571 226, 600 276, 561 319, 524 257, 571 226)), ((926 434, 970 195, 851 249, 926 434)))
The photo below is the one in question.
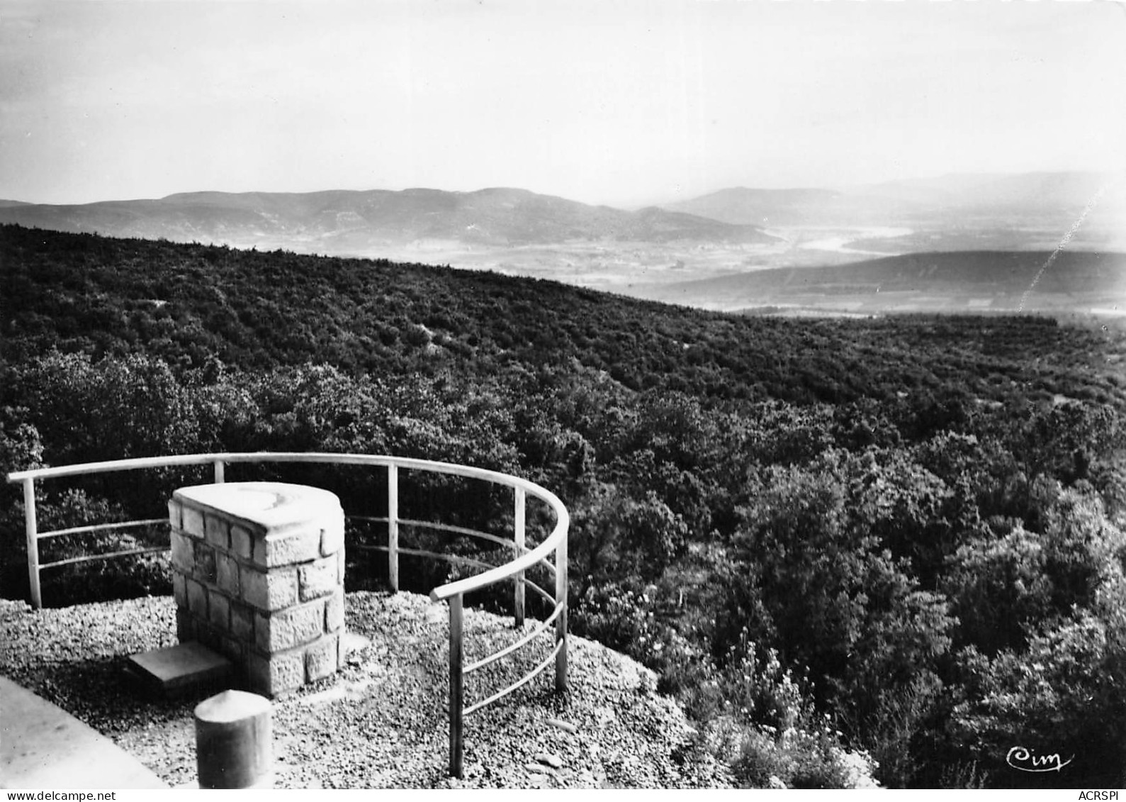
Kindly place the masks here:
POLYGON ((28 479, 57 479, 61 476, 82 476, 114 471, 137 471, 157 467, 179 467, 184 465, 208 465, 215 462, 232 463, 316 463, 333 465, 378 465, 387 467, 395 465, 406 470, 446 473, 466 479, 481 479, 495 484, 507 484, 510 488, 521 488, 525 492, 546 501, 555 513, 555 527, 538 546, 511 562, 473 577, 466 577, 454 582, 439 586, 430 591, 430 599, 445 602, 456 594, 468 594, 495 585, 504 579, 511 579, 520 571, 543 560, 555 550, 558 542, 566 536, 570 516, 566 507, 555 493, 535 482, 530 482, 509 473, 492 471, 485 467, 459 465, 453 462, 436 460, 419 460, 415 457, 390 456, 386 454, 347 454, 333 452, 216 452, 209 454, 178 454, 172 456, 142 456, 125 460, 108 460, 106 462, 87 462, 75 465, 59 465, 54 467, 35 467, 26 471, 12 471, 8 474, 9 482, 21 482, 28 479))

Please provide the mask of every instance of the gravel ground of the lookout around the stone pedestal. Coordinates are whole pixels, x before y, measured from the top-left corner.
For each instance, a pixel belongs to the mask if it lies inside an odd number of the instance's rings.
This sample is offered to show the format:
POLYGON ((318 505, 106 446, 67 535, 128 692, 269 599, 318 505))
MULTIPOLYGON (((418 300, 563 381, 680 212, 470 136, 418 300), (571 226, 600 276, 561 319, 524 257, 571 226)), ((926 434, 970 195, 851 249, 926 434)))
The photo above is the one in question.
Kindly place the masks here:
MULTIPOLYGON (((423 596, 348 595, 348 631, 369 643, 334 679, 275 701, 279 788, 730 787, 726 767, 689 747, 691 728, 651 671, 569 639, 569 692, 553 672, 466 720, 465 778, 447 776, 445 606, 423 596)), ((530 623, 529 623, 530 626, 530 623)), ((141 695, 125 659, 176 643, 176 607, 155 597, 32 611, 0 605, 0 672, 109 736, 170 785, 196 777, 199 697, 141 695)), ((466 609, 466 663, 520 636, 511 620, 466 609)), ((549 635, 474 672, 466 704, 543 659, 549 635), (481 675, 481 676, 479 676, 481 675)))

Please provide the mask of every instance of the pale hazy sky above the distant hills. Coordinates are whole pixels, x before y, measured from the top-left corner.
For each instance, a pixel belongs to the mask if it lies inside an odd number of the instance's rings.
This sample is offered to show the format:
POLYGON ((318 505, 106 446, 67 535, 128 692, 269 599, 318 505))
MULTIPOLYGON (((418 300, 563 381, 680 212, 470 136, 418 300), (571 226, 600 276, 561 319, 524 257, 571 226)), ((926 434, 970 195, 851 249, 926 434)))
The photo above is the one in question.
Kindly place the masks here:
POLYGON ((1112 0, 0 0, 0 198, 1126 167, 1112 0))

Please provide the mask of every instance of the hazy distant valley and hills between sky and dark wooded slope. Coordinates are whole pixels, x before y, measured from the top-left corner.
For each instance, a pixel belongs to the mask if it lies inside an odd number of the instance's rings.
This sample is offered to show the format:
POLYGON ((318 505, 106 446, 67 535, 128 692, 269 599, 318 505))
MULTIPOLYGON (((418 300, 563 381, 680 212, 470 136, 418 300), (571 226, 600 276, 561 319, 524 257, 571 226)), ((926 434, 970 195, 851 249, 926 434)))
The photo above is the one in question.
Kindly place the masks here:
POLYGON ((1126 185, 1082 172, 731 188, 633 211, 508 188, 188 193, 70 206, 5 202, 0 222, 448 265, 771 314, 1115 318, 1126 295, 1116 256, 1126 252, 1126 185), (1053 258, 1056 250, 1092 256, 1053 258), (896 273, 903 262, 879 259, 912 253, 946 256, 909 277, 896 273))

